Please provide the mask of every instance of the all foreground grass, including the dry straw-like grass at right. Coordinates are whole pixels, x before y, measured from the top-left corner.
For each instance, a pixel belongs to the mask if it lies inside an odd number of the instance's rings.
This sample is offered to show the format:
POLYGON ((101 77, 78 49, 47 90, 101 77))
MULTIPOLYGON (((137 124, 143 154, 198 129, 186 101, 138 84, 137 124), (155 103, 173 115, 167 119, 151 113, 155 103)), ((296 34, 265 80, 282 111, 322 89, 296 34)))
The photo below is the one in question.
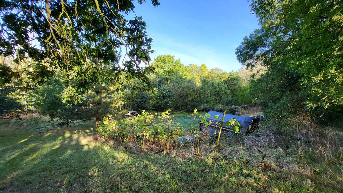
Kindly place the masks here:
POLYGON ((222 141, 217 157, 210 155, 213 145, 205 144, 201 156, 185 145, 165 154, 112 140, 94 141, 92 126, 37 131, 28 124, 18 127, 0 121, 0 192, 340 192, 343 188, 342 175, 328 179, 325 170, 313 172, 310 161, 319 159, 308 154, 315 152, 309 149, 269 148, 263 146, 264 138, 246 137, 238 143, 222 141), (249 145, 255 142, 268 154, 262 162, 261 154, 249 145))

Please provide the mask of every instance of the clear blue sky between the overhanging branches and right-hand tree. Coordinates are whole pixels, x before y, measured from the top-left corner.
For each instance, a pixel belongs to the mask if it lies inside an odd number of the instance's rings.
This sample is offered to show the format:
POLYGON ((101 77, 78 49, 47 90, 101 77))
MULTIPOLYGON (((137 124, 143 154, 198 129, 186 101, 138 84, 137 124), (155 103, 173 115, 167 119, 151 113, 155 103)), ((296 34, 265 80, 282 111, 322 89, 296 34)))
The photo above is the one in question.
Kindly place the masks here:
POLYGON ((154 8, 150 0, 135 2, 134 12, 147 24, 153 38, 152 49, 158 55, 170 54, 184 65, 206 64, 210 68, 236 71, 241 67, 235 49, 245 36, 259 28, 247 0, 195 1, 159 0, 154 8))

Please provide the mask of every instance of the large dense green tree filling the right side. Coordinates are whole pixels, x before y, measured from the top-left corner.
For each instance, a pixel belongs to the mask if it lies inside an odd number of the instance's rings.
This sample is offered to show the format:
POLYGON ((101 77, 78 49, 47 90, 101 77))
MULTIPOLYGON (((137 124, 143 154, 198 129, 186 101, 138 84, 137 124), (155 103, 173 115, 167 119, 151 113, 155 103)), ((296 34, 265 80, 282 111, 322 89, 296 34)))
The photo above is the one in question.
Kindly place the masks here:
POLYGON ((343 35, 340 1, 253 0, 261 28, 236 48, 247 67, 267 68, 254 84, 258 102, 273 116, 311 111, 343 114, 343 35))

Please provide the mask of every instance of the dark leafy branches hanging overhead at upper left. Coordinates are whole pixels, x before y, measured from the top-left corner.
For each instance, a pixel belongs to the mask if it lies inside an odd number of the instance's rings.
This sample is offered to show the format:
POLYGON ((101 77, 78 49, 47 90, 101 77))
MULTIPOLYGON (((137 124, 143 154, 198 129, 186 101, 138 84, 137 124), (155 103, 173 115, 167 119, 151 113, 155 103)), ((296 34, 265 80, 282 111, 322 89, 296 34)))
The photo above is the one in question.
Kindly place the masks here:
POLYGON ((3 1, 0 54, 15 55, 18 68, 2 67, 1 83, 15 77, 28 56, 48 64, 37 66, 41 76, 59 70, 77 90, 119 79, 149 84, 152 68, 140 64, 149 64, 152 38, 141 17, 125 18, 133 8, 133 0, 3 1))

